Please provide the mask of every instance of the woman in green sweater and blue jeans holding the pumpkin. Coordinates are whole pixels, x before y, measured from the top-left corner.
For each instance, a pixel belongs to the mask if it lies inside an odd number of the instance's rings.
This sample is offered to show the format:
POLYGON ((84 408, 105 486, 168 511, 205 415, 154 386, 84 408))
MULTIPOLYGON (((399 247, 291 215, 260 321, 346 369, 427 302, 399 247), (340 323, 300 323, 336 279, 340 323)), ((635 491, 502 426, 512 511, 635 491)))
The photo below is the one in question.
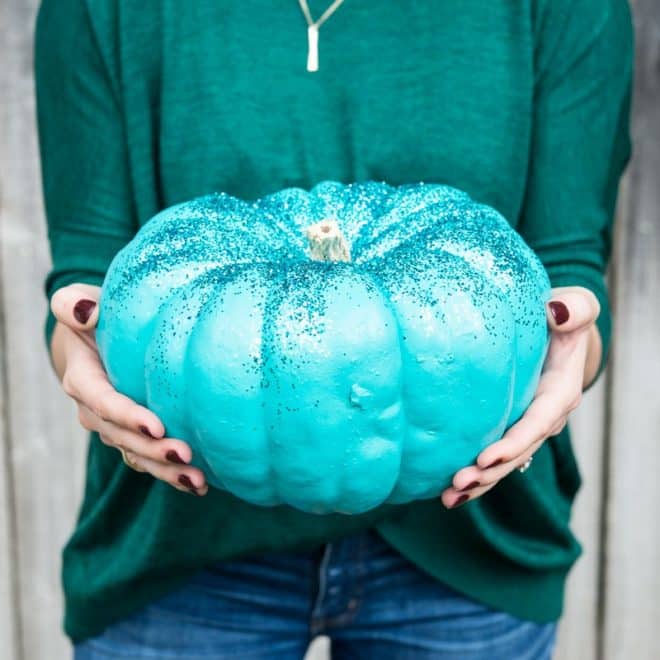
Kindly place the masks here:
POLYGON ((346 658, 548 658, 580 551, 566 417, 610 338, 627 4, 309 4, 43 2, 46 335, 92 432, 66 632, 80 660, 299 658, 319 633, 346 658), (256 199, 324 179, 466 190, 555 287, 534 402, 439 500, 313 516, 209 490, 188 445, 99 362, 98 285, 149 217, 214 190, 256 199))

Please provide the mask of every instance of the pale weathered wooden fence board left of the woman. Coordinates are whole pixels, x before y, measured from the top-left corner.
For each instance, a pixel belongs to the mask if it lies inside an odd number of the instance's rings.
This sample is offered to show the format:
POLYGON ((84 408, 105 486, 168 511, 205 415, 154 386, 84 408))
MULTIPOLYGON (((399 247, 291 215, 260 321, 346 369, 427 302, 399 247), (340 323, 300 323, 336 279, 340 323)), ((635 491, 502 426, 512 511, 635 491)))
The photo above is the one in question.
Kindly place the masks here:
MULTIPOLYGON (((48 251, 34 128, 36 7, 37 0, 2 0, 0 4, 0 277, 8 412, 3 454, 11 476, 3 485, 10 488, 13 504, 4 514, 13 525, 8 537, 13 598, 4 607, 0 604, 0 619, 10 621, 14 616, 11 625, 16 631, 15 649, 4 652, 0 648, 2 660, 59 660, 69 655, 59 631, 58 549, 78 506, 84 452, 73 405, 61 396, 43 341, 41 281, 48 251)), ((0 561, 4 563, 4 557, 0 561)))

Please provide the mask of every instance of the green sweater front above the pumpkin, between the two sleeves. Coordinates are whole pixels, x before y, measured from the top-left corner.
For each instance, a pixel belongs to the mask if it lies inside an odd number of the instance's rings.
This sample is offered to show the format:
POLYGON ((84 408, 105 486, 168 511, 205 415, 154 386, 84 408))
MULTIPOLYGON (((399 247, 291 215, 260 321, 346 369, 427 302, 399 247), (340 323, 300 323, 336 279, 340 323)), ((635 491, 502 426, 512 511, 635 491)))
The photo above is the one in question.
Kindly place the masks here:
MULTIPOLYGON (((320 29, 316 73, 295 0, 96 4, 97 29, 116 31, 100 42, 113 44, 141 223, 214 190, 249 199, 374 179, 448 183, 516 224, 534 94, 528 3, 347 0, 320 29)), ((312 16, 326 5, 312 0, 312 16)))

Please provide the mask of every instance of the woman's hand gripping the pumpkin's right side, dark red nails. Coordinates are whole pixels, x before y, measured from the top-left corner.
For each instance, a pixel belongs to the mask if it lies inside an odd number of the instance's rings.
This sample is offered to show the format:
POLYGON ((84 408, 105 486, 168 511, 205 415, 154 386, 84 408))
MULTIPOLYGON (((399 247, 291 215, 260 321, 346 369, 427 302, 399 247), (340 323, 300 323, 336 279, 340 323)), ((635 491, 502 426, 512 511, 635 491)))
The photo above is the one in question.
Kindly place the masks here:
POLYGON ((600 313, 596 296, 579 286, 556 288, 546 311, 550 347, 534 400, 500 440, 479 454, 475 465, 454 475, 452 486, 441 495, 446 507, 483 495, 523 466, 546 438, 564 428, 583 389, 595 378, 602 350, 595 325, 600 313))

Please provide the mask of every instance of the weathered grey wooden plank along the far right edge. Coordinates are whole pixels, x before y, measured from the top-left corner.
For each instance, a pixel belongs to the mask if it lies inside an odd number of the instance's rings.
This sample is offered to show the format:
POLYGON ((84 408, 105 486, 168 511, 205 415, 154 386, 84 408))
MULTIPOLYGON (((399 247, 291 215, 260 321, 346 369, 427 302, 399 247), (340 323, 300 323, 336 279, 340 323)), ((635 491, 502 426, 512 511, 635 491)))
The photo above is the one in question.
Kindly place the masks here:
POLYGON ((604 648, 660 657, 660 3, 636 0, 635 160, 616 244, 604 648))

